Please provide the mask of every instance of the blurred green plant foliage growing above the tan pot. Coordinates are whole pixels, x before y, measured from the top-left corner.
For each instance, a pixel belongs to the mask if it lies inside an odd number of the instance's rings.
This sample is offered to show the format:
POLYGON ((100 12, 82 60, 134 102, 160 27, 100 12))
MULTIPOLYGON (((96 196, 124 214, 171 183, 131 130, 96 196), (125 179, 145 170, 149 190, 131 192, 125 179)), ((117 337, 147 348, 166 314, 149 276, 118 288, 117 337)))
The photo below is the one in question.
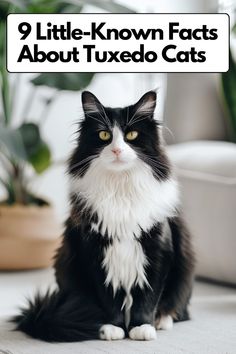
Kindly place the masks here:
POLYGON ((19 81, 22 74, 6 70, 6 18, 9 13, 80 13, 84 5, 92 5, 106 12, 132 13, 131 9, 112 0, 1 0, 0 2, 0 184, 6 191, 2 204, 45 205, 47 201, 31 191, 30 181, 52 164, 49 145, 44 141, 41 127, 51 105, 62 90, 80 91, 87 87, 93 73, 45 73, 31 80, 31 90, 25 98, 21 121, 13 119, 19 104, 19 81), (33 97, 40 86, 54 89, 54 94, 42 104, 38 122, 28 120, 33 97))

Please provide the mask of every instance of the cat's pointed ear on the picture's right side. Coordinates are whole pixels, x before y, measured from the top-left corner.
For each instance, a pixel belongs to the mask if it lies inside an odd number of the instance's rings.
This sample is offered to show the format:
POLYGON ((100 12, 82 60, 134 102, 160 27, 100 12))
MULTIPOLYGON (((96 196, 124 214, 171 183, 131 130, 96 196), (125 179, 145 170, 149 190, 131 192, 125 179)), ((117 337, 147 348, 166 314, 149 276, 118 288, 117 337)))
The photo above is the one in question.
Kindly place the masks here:
POLYGON ((146 92, 134 105, 135 115, 143 115, 152 118, 156 108, 156 97, 157 94, 155 91, 146 92))

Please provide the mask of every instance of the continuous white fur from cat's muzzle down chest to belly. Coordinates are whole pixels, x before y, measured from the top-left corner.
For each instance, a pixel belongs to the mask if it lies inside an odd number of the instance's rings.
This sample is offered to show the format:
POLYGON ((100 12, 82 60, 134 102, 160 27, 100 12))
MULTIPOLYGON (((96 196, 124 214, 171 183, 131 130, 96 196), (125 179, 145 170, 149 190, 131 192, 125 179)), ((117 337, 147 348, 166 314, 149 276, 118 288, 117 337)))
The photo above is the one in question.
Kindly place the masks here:
POLYGON ((132 286, 149 285, 147 259, 137 239, 142 230, 147 232, 156 222, 175 214, 177 184, 173 179, 157 181, 115 127, 112 143, 93 160, 82 178, 72 181, 72 189, 98 216, 98 223, 91 228, 113 239, 102 263, 107 274, 105 284, 112 285, 114 294, 121 286, 126 291, 123 307, 128 323, 132 286), (114 148, 121 150, 120 156, 115 156, 114 148))

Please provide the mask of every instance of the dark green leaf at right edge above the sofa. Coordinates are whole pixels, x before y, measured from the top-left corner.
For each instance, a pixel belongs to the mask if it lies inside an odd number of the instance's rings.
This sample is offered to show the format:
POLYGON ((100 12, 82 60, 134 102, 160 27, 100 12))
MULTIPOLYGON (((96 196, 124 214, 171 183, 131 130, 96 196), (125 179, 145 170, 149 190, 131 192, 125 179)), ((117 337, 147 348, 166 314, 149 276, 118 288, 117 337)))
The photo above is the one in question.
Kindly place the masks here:
POLYGON ((233 60, 232 53, 229 55, 230 69, 222 74, 222 87, 225 103, 229 113, 231 126, 236 142, 236 64, 233 60))

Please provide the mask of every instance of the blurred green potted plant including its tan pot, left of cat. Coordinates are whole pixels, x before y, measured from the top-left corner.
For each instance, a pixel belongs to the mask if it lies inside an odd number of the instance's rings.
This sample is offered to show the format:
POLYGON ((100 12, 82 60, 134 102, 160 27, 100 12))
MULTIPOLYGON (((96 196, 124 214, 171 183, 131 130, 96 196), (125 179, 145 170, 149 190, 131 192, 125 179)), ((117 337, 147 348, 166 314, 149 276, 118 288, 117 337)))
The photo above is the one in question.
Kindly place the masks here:
MULTIPOLYGON (((41 122, 26 121, 32 95, 39 86, 80 91, 87 87, 92 73, 47 73, 31 80, 31 93, 25 102, 21 122, 14 122, 18 81, 22 74, 6 71, 6 16, 8 13, 78 13, 84 4, 106 11, 132 12, 113 1, 104 0, 5 0, 0 4, 0 185, 5 198, 0 201, 0 269, 32 269, 51 264, 60 242, 61 227, 49 201, 31 188, 31 180, 53 164, 50 147, 41 132, 41 122)), ((43 119, 57 94, 42 102, 43 119)))

